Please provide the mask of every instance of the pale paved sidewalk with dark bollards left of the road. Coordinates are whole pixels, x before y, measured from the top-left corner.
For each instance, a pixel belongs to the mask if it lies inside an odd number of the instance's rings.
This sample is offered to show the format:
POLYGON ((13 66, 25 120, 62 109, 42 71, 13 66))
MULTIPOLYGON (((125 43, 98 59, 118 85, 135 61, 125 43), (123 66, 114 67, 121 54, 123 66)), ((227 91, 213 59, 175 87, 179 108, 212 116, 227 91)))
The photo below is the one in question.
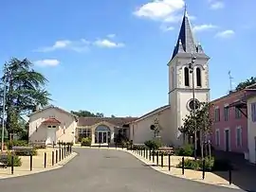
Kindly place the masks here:
MULTIPOLYGON (((66 156, 64 158, 64 160, 59 161, 59 154, 58 154, 58 163, 56 164, 56 159, 55 159, 56 153, 55 152, 57 149, 58 148, 38 149, 38 155, 33 156, 32 171, 30 171, 29 156, 21 156, 22 166, 14 166, 13 167, 13 175, 11 174, 10 167, 0 168, 0 179, 25 176, 25 175, 29 175, 29 174, 45 172, 48 170, 61 168, 77 155, 76 152, 72 152, 70 155, 66 156), (52 166, 52 151, 54 151, 54 166, 52 166), (45 168, 45 152, 46 152, 46 168, 45 168)), ((59 150, 58 150, 58 153, 59 153, 59 150)))

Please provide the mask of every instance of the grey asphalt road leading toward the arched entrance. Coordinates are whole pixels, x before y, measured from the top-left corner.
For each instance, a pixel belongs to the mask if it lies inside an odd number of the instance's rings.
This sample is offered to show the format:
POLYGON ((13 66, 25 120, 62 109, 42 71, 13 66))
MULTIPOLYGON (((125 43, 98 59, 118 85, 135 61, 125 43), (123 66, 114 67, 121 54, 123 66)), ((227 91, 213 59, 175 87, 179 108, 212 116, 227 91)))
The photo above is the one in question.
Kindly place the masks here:
MULTIPOLYGON (((76 148, 63 168, 0 180, 2 192, 239 192, 159 173, 124 151, 76 148)), ((242 191, 242 190, 240 190, 242 191)))

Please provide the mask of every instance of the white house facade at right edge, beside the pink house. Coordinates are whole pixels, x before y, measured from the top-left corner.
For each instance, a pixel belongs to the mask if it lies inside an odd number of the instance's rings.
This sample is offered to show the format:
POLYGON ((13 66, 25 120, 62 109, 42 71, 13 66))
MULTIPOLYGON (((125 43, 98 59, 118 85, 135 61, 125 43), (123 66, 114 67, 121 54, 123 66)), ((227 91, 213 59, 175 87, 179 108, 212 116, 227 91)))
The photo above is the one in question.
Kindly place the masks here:
POLYGON ((247 142, 248 161, 256 164, 256 96, 247 99, 247 142))

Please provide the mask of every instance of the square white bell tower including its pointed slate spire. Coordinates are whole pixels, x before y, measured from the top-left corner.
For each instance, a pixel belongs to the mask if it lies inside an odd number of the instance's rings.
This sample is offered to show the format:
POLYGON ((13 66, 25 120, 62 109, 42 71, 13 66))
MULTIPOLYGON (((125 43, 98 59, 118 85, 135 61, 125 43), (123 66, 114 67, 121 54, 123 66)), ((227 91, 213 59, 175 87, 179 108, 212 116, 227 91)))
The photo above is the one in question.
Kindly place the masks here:
POLYGON ((176 146, 183 142, 182 134, 178 131, 183 125, 183 119, 197 107, 198 102, 210 100, 209 60, 202 45, 194 39, 185 9, 174 53, 168 62, 169 104, 174 132, 171 136, 176 146))

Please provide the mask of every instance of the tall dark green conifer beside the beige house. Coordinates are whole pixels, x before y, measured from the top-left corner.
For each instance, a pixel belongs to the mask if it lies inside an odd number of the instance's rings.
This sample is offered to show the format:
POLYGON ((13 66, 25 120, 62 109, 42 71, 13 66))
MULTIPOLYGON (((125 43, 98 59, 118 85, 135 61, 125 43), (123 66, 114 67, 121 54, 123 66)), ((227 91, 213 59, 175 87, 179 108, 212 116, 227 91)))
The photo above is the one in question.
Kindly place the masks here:
MULTIPOLYGON (((46 106, 50 100, 45 89, 47 79, 34 71, 32 65, 27 59, 16 58, 6 63, 7 71, 1 80, 4 82, 6 79, 6 126, 9 133, 22 131, 21 115, 33 111, 35 106, 46 106)), ((1 92, 3 96, 3 88, 1 92)), ((3 110, 3 105, 1 108, 3 110)))

